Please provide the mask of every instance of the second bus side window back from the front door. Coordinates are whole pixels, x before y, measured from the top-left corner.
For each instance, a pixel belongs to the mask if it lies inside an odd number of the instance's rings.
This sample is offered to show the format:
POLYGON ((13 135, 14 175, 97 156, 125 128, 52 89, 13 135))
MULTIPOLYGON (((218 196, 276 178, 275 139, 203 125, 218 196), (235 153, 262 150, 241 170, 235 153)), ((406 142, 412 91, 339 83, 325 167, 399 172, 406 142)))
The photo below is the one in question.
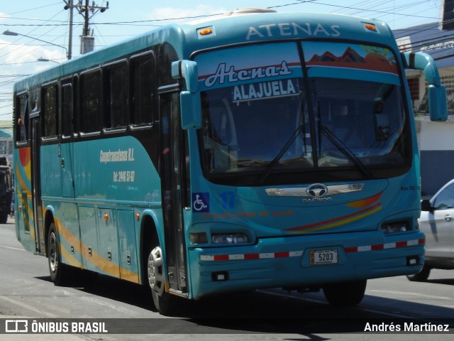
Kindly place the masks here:
POLYGON ((128 67, 126 62, 106 67, 104 75, 105 127, 128 124, 128 67))

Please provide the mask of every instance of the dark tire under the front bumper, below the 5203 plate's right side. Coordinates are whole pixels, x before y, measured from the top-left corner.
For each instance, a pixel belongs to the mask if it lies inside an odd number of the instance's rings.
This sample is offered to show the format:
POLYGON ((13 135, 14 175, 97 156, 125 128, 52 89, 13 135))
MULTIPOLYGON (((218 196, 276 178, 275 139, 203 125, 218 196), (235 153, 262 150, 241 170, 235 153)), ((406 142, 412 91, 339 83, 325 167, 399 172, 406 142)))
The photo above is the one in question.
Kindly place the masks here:
POLYGON ((367 280, 330 283, 323 286, 323 293, 331 305, 353 306, 362 301, 367 280))

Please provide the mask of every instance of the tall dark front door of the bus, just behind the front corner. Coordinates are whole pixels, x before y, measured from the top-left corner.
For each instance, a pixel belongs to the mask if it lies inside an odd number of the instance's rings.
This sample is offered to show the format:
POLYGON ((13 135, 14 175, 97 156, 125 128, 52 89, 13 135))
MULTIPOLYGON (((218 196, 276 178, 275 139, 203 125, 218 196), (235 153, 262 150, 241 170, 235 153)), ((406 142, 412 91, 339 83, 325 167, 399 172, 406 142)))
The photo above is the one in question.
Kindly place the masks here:
MULTIPOLYGON (((175 89, 177 90, 177 89, 175 89)), ((175 91, 174 90, 174 91, 175 91)), ((180 124, 178 92, 160 93, 160 177, 169 288, 187 293, 184 244, 183 180, 186 148, 180 124)))

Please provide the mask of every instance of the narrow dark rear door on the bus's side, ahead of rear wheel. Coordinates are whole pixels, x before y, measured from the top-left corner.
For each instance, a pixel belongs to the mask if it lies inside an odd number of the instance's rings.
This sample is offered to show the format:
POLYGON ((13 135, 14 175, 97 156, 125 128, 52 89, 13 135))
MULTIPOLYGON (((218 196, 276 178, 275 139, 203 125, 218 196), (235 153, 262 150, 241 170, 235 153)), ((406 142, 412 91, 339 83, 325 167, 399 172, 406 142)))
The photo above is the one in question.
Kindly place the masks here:
POLYGON ((39 115, 31 116, 31 191, 33 201, 33 223, 35 229, 36 251, 45 253, 43 233, 43 207, 41 202, 41 173, 40 173, 40 140, 41 124, 39 115))

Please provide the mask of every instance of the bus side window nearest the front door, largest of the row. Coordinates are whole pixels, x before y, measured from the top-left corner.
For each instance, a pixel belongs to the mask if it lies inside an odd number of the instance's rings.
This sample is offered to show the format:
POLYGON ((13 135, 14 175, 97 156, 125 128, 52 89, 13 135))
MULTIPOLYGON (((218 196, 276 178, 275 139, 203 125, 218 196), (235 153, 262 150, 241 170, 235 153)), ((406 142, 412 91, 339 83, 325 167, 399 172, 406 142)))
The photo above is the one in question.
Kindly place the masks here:
POLYGON ((152 124, 155 60, 153 55, 131 59, 131 123, 152 124))

